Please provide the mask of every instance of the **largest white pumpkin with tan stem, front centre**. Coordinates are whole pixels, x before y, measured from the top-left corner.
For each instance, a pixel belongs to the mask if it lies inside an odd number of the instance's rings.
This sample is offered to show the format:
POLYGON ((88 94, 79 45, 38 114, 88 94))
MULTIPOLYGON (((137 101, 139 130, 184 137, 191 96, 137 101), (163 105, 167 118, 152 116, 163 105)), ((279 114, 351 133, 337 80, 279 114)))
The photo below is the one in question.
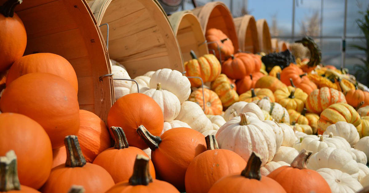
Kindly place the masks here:
POLYGON ((252 152, 258 153, 262 166, 272 161, 276 152, 272 128, 258 118, 246 118, 244 113, 240 113, 240 116, 232 118, 219 128, 216 138, 221 149, 234 151, 245 161, 248 161, 252 152))

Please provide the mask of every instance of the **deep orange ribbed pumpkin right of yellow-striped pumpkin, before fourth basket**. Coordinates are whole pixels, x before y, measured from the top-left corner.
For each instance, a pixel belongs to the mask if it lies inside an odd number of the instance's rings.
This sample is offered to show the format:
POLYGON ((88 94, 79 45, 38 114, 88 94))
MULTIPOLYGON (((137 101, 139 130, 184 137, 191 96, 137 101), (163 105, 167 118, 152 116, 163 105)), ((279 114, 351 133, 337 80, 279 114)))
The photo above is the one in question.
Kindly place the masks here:
POLYGON ((223 62, 222 73, 231 79, 238 80, 254 72, 259 72, 260 68, 261 59, 259 56, 240 52, 235 55, 231 55, 231 58, 228 58, 223 62))

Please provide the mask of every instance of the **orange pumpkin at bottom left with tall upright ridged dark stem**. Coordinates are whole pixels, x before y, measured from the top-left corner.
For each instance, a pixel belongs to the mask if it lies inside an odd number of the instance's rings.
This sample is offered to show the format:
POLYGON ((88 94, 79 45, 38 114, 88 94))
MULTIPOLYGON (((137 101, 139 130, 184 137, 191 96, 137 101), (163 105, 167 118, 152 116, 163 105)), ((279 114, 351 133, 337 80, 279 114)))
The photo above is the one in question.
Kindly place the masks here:
POLYGON ((80 185, 86 192, 105 192, 114 186, 114 180, 101 166, 86 163, 86 159, 80 149, 76 135, 65 137, 67 159, 51 170, 50 176, 41 192, 65 193, 72 185, 80 185), (94 179, 94 180, 91 180, 94 179))

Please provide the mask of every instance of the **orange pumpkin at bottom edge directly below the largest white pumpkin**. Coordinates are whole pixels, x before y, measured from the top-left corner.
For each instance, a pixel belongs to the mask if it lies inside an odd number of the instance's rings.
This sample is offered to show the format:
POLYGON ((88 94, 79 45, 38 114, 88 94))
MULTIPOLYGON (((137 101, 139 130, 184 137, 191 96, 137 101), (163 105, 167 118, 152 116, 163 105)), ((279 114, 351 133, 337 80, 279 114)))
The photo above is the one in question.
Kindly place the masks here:
POLYGON ((241 175, 233 174, 218 180, 209 190, 209 193, 286 193, 282 186, 274 180, 260 174, 260 155, 252 152, 246 168, 241 175))

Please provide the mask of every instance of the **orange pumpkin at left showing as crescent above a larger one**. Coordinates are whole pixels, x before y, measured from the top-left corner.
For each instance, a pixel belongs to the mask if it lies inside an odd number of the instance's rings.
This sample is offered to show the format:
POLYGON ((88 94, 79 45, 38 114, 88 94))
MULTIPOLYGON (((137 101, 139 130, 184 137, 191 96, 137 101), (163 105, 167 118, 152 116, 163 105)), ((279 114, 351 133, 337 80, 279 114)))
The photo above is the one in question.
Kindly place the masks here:
POLYGON ((20 76, 33 72, 51 73, 62 77, 78 92, 77 75, 72 65, 62 56, 51 53, 37 53, 23 56, 11 65, 6 86, 20 76))

